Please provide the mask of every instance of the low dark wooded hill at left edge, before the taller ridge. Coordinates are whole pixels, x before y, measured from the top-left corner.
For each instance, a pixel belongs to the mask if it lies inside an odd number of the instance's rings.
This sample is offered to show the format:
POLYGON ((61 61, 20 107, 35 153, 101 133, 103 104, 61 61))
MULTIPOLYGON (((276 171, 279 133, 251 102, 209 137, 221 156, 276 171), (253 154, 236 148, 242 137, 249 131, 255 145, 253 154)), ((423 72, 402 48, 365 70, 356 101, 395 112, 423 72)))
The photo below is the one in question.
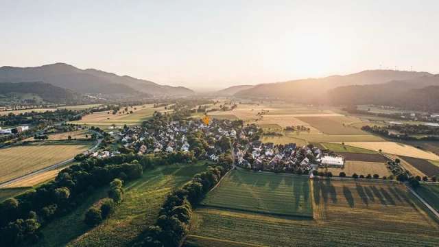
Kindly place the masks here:
POLYGON ((11 93, 38 95, 45 102, 58 104, 78 103, 82 99, 79 93, 44 82, 0 83, 0 95, 8 97, 11 93))

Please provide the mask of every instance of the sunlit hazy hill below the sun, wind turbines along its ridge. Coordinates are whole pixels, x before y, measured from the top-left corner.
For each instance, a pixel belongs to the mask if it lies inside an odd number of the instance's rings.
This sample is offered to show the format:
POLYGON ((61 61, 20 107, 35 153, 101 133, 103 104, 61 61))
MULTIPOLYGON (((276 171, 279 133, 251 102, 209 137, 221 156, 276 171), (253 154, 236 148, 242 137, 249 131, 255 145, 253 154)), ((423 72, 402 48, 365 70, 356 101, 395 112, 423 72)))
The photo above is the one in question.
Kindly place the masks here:
POLYGON ((294 102, 321 102, 326 97, 327 91, 337 86, 381 84, 392 80, 411 80, 423 75, 431 75, 426 72, 372 70, 362 71, 351 75, 333 75, 326 78, 311 78, 259 84, 239 91, 237 97, 264 97, 289 99, 294 102))

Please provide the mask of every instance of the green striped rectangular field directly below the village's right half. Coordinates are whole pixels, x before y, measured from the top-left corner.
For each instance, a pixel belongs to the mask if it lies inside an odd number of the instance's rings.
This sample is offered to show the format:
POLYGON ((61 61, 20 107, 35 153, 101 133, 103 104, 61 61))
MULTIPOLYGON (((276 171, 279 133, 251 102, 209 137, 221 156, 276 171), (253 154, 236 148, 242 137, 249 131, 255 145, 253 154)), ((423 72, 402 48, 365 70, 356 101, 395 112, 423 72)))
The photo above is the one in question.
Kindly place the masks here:
POLYGON ((234 170, 201 204, 258 213, 312 216, 307 176, 234 170))

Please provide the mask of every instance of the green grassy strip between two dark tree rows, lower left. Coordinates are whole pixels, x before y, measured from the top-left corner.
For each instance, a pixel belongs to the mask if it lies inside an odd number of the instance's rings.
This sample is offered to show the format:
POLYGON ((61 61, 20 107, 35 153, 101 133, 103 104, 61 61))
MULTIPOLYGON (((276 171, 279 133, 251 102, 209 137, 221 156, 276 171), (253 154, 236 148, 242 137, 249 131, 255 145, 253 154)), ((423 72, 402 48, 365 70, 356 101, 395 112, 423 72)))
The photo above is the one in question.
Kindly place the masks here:
MULTIPOLYGON (((154 224, 166 196, 205 170, 204 162, 200 162, 144 171, 142 178, 124 185, 123 201, 108 220, 86 233, 69 236, 71 241, 67 246, 131 246, 135 237, 154 224)), ((85 224, 80 222, 73 227, 82 228, 82 225, 85 224)), ((58 242, 58 246, 62 244, 66 242, 58 242)))

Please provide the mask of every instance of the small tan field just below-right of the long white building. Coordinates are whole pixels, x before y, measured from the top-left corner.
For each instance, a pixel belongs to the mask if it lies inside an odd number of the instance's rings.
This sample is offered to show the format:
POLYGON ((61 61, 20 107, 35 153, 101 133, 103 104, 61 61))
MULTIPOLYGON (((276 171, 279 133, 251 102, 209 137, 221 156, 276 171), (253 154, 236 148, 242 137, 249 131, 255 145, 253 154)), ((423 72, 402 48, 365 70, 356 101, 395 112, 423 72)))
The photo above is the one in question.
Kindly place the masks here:
MULTIPOLYGON (((320 170, 324 171, 325 169, 320 168, 320 170)), ((344 172, 346 176, 352 176, 354 173, 364 176, 378 174, 380 178, 392 175, 385 163, 364 161, 346 161, 343 169, 331 167, 328 168, 328 172, 332 172, 334 176, 338 176, 340 172, 344 172)))

